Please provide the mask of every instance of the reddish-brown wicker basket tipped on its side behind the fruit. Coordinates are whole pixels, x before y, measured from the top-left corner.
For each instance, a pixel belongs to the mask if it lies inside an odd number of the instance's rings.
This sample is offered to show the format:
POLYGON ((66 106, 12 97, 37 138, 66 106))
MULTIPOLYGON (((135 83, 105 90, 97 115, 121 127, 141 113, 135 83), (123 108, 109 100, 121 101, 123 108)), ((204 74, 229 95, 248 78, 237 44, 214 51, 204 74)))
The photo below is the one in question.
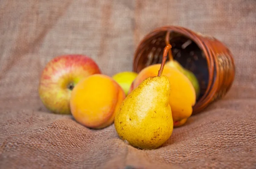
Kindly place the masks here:
POLYGON ((214 37, 183 27, 165 26, 147 34, 134 54, 135 72, 139 73, 148 65, 161 63, 166 38, 172 45, 174 59, 191 70, 198 79, 201 93, 193 107, 193 114, 201 112, 227 93, 235 76, 230 50, 214 37))

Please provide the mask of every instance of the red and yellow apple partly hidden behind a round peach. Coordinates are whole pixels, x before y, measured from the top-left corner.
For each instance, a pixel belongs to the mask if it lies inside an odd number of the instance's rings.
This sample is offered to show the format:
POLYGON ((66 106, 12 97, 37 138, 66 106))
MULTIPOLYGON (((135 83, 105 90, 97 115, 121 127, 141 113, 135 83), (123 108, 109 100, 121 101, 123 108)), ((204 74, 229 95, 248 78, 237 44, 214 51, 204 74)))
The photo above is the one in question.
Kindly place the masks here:
POLYGON ((101 74, 96 62, 85 55, 62 55, 50 60, 39 82, 39 96, 52 113, 70 114, 70 96, 78 82, 101 74))

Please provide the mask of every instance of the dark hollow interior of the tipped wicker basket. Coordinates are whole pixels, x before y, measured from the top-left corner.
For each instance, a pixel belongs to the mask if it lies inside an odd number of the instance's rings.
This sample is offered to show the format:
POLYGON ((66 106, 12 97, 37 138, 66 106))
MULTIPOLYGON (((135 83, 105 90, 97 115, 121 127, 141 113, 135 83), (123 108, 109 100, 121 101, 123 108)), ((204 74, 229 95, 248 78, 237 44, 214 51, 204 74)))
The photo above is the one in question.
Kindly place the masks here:
MULTIPOLYGON (((155 34, 147 39, 141 48, 143 68, 149 65, 161 63, 165 43, 166 31, 155 34), (146 59, 145 59, 146 58, 146 59)), ((197 100, 204 95, 209 82, 209 71, 207 59, 204 52, 198 45, 187 36, 172 31, 170 42, 172 45, 172 55, 184 68, 191 70, 198 79, 201 93, 197 100)), ((167 58, 167 61, 169 58, 167 58)))

